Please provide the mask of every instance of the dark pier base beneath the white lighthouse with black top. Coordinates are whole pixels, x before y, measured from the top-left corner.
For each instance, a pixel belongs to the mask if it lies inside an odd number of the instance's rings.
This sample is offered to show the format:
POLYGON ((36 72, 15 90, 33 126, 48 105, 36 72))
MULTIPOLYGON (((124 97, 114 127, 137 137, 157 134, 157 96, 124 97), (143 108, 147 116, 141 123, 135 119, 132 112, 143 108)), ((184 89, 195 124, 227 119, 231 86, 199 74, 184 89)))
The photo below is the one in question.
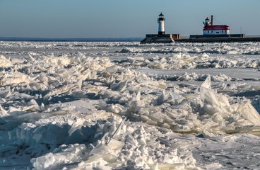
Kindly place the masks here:
POLYGON ((145 43, 175 43, 175 35, 173 34, 146 34, 146 38, 141 40, 141 44, 145 43))

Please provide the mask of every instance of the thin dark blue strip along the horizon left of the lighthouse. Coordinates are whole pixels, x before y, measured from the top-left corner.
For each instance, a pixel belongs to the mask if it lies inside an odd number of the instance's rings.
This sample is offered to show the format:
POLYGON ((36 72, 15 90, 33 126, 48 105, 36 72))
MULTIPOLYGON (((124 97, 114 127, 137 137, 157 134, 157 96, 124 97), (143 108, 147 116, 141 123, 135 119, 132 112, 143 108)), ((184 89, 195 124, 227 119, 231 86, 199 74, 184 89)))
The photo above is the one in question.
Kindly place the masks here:
POLYGON ((13 38, 0 37, 0 41, 34 41, 34 42, 126 42, 141 41, 143 38, 13 38))

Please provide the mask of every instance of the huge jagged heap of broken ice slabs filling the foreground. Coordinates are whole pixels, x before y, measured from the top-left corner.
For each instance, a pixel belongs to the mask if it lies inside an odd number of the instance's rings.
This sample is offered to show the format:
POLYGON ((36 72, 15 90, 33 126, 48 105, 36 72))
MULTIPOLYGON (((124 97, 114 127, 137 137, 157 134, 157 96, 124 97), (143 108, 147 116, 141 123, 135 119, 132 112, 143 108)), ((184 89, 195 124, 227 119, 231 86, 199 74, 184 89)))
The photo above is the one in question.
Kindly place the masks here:
POLYGON ((190 150, 162 138, 175 132, 260 135, 250 101, 218 94, 210 76, 189 89, 81 54, 1 56, 0 64, 1 157, 28 156, 35 169, 194 168, 190 150), (77 100, 83 110, 65 104, 77 100))

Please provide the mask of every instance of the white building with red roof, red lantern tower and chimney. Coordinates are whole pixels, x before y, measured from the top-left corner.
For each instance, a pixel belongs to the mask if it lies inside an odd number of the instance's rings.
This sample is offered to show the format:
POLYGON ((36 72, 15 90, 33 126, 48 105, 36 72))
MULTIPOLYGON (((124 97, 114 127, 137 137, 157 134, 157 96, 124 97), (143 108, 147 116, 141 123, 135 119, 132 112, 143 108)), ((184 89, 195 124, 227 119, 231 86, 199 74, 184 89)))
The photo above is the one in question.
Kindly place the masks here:
POLYGON ((229 35, 230 27, 227 25, 213 25, 213 16, 211 16, 211 22, 207 17, 205 22, 203 22, 203 35, 229 35))

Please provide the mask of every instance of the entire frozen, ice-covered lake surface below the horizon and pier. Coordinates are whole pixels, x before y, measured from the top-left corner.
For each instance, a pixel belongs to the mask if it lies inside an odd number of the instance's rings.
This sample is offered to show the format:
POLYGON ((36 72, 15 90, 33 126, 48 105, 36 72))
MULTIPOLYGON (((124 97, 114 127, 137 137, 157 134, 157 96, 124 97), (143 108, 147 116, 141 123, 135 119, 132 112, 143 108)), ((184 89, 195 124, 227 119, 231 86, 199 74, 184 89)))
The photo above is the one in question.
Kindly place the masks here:
POLYGON ((259 47, 0 42, 0 169, 260 169, 259 47))

